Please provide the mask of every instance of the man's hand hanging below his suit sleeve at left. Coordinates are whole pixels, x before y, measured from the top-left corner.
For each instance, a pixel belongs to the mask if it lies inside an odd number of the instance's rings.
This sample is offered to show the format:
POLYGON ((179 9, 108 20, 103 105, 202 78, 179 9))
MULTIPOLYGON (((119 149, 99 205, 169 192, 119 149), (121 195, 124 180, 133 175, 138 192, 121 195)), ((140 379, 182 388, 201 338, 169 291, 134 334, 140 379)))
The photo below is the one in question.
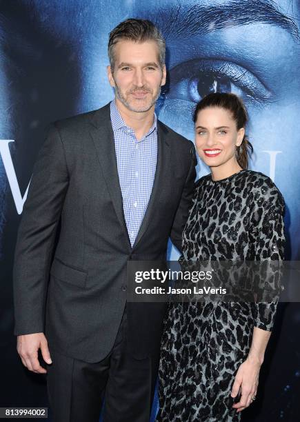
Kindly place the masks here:
POLYGON ((36 372, 37 374, 46 374, 46 369, 41 367, 37 357, 39 349, 41 349, 43 360, 46 363, 52 363, 47 339, 43 332, 26 334, 17 337, 17 351, 21 357, 23 365, 30 371, 36 372))

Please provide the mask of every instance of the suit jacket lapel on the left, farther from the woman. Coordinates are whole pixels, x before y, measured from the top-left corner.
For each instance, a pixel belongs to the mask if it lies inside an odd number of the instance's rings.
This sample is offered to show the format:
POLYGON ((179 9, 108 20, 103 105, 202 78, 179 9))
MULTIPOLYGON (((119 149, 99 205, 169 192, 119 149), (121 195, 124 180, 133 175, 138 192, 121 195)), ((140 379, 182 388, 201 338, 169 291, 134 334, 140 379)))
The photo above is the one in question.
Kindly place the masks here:
POLYGON ((114 134, 112 132, 112 124, 110 121, 110 104, 97 110, 92 116, 91 123, 92 127, 90 129, 90 134, 92 136, 94 148, 97 151, 103 176, 104 179, 106 179, 106 184, 108 185, 114 210, 131 249, 123 212, 123 199, 119 183, 116 151, 114 147, 114 134))

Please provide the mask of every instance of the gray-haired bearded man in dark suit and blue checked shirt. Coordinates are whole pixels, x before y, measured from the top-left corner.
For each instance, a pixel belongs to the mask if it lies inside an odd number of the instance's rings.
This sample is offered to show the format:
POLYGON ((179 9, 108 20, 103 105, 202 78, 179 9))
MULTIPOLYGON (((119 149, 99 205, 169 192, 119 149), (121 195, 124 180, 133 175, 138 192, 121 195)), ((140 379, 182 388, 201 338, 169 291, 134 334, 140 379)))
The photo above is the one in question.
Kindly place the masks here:
POLYGON ((14 263, 23 364, 44 373, 54 421, 148 421, 165 305, 126 305, 128 260, 166 258, 196 176, 194 146, 157 121, 165 41, 150 21, 110 33, 115 100, 52 125, 34 166, 14 263), (46 319, 46 323, 44 320, 46 319), (44 334, 45 333, 45 334, 44 334))

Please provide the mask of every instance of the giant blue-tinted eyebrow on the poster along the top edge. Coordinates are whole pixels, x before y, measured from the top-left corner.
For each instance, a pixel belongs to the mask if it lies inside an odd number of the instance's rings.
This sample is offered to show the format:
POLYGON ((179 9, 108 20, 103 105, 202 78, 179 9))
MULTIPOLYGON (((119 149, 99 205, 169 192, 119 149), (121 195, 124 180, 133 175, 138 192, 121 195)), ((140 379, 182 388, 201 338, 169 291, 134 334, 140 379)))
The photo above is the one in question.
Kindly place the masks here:
POLYGON ((299 39, 297 23, 276 7, 272 0, 232 0, 226 4, 212 3, 201 6, 197 3, 166 6, 159 14, 148 17, 155 21, 163 35, 190 38, 216 30, 253 23, 276 25, 299 39))

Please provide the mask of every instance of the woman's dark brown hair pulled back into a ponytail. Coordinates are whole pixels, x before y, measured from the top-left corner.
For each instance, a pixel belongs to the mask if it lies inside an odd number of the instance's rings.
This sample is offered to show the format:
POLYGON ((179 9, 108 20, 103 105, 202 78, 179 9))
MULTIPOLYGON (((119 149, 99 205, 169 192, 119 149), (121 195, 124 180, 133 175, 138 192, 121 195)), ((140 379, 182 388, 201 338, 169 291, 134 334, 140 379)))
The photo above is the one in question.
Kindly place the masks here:
MULTIPOLYGON (((206 95, 206 97, 199 101, 194 110, 194 123, 197 121, 198 113, 208 107, 224 108, 230 111, 232 118, 237 123, 237 130, 246 128, 248 112, 243 101, 237 95, 229 94, 228 92, 212 92, 212 94, 206 95)), ((237 147, 237 162, 241 168, 248 168, 248 161, 252 152, 253 147, 245 134, 241 145, 237 147)))

